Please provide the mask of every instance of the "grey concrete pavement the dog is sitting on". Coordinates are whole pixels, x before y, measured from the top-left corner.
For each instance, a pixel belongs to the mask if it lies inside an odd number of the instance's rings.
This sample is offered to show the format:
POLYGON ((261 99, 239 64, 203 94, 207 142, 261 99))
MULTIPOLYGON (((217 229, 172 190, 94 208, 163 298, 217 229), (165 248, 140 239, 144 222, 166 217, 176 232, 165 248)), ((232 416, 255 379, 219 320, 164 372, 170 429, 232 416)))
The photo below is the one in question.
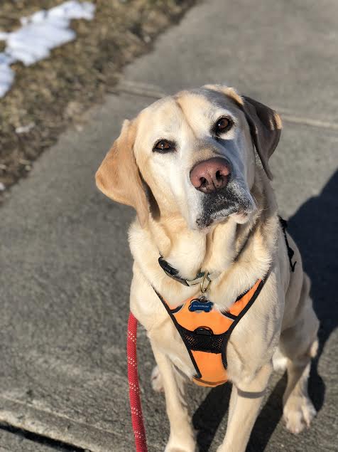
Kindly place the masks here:
MULTIPOLYGON (((126 68, 123 93, 92 109, 82 132, 68 130, 13 187, 0 209, 0 421, 93 452, 133 450, 125 358, 133 212, 98 193, 94 172, 124 117, 162 92, 227 83, 282 112, 274 186, 322 323, 312 428, 299 436, 283 428, 285 379, 277 375, 249 451, 337 450, 338 6, 254 3, 195 6, 126 68)), ((149 449, 162 451, 168 421, 163 396, 149 384, 153 357, 143 331, 138 348, 149 449)), ((214 451, 229 388, 188 391, 201 450, 214 451)))

